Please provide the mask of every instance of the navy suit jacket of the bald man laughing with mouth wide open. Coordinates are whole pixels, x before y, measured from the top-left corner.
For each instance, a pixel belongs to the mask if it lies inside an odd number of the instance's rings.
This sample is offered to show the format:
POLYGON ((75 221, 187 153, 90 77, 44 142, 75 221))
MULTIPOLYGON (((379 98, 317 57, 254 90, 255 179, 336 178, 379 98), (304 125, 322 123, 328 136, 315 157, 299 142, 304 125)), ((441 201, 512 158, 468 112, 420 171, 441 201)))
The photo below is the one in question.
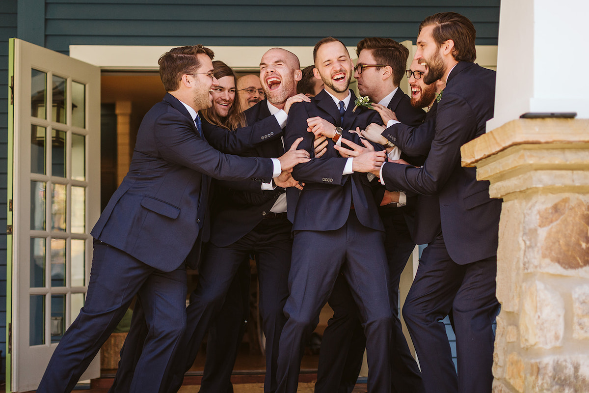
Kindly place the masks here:
MULTIPOLYGON (((284 154, 282 135, 276 118, 270 115, 266 100, 244 111, 252 133, 258 128, 262 136, 254 137, 255 146, 243 150, 241 156, 276 158, 284 154)), ((207 135, 207 138, 209 136, 207 135)), ((284 189, 262 190, 262 181, 215 181, 210 242, 224 247, 241 239, 259 224, 284 189)))

